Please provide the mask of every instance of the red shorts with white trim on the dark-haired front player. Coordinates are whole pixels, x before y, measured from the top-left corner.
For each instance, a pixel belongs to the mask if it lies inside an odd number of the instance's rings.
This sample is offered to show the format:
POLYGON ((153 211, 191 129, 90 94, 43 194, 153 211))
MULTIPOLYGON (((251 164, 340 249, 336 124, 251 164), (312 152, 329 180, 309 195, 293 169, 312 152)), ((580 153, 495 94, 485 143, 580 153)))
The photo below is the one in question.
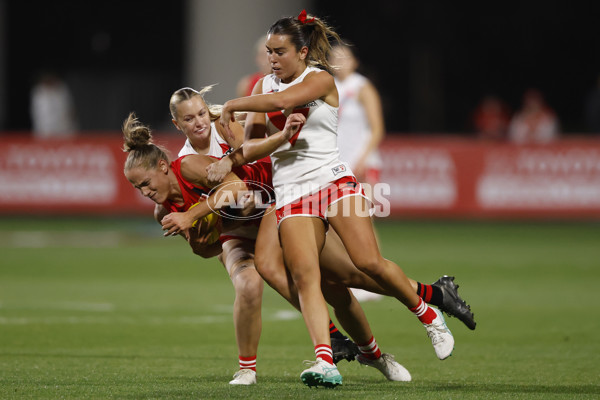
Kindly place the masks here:
POLYGON ((277 226, 289 217, 317 217, 327 223, 327 209, 344 197, 362 196, 369 203, 360 183, 354 176, 345 176, 319 189, 318 192, 301 197, 293 203, 275 210, 277 226))

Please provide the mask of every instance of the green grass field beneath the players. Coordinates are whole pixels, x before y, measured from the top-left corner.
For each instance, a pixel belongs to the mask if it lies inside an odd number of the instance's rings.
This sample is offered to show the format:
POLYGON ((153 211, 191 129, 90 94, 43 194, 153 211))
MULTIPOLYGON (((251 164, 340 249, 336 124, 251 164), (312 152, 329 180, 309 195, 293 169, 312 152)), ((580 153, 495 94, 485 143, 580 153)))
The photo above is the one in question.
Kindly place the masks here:
POLYGON ((475 331, 454 354, 392 299, 364 308, 382 350, 413 382, 342 361, 343 386, 309 389, 306 329, 265 291, 259 384, 237 370, 233 288, 216 260, 148 219, 0 220, 0 398, 597 399, 598 223, 387 222, 383 252, 407 275, 456 276, 475 331))

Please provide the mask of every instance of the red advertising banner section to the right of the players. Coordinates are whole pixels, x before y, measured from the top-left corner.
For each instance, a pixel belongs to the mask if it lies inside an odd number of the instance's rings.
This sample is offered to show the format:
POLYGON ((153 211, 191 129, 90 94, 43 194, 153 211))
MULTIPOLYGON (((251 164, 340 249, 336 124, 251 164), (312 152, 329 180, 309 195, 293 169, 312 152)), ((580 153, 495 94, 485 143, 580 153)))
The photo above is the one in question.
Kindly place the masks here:
POLYGON ((389 138, 381 153, 392 215, 600 218, 600 141, 389 138))

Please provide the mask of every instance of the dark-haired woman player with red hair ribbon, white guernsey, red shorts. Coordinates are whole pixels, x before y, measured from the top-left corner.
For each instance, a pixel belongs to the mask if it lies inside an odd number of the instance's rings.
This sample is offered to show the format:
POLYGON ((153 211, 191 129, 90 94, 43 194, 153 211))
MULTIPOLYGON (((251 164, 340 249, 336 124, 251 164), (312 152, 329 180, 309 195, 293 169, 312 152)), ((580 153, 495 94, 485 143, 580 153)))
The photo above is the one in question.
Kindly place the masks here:
MULTIPOLYGON (((356 211, 369 206, 350 168, 338 159, 337 89, 331 74, 315 67, 328 68, 328 37, 339 39, 323 21, 307 16, 305 11, 297 18, 275 22, 266 42, 273 74, 259 81, 255 95, 226 102, 220 120, 227 128, 234 112, 249 112, 245 160, 271 154, 283 256, 298 288, 303 318, 315 348, 315 363, 301 374, 309 386, 336 386, 342 382, 332 362, 328 311, 321 291, 319 253, 327 223, 341 237, 354 265, 417 315, 438 358, 447 358, 454 348, 454 338, 441 312, 424 303, 402 269, 381 256, 370 216, 356 211), (247 146, 250 141, 279 131, 290 114, 305 122, 299 132, 285 141, 267 138, 260 151, 252 154, 252 146, 247 146)), ((362 345, 361 352, 371 346, 362 345)), ((372 362, 366 355, 362 359, 367 364, 372 362)))

